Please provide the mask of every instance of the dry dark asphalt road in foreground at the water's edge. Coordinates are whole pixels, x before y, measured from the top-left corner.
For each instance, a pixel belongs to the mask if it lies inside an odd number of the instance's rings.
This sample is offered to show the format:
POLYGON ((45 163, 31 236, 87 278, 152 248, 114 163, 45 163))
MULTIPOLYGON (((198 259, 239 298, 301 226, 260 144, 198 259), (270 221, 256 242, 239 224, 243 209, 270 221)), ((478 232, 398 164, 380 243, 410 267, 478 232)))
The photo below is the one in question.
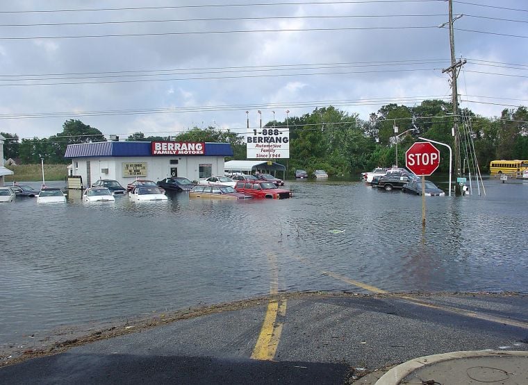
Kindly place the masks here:
POLYGON ((429 354, 528 350, 528 296, 274 296, 135 330, 4 366, 0 383, 347 384, 429 354))

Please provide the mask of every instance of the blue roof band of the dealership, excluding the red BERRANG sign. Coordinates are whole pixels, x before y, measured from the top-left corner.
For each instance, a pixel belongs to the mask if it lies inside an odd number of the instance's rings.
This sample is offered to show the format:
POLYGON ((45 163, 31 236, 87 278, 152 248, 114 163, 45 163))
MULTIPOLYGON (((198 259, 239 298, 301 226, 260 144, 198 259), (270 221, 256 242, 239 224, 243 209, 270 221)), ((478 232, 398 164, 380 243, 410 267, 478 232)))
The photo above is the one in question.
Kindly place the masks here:
MULTIPOLYGON (((141 157, 152 156, 151 142, 95 142, 83 144, 68 144, 64 157, 141 157)), ((172 156, 174 155, 154 155, 172 156)), ((233 156, 233 148, 229 143, 206 142, 204 155, 178 156, 233 156)))

